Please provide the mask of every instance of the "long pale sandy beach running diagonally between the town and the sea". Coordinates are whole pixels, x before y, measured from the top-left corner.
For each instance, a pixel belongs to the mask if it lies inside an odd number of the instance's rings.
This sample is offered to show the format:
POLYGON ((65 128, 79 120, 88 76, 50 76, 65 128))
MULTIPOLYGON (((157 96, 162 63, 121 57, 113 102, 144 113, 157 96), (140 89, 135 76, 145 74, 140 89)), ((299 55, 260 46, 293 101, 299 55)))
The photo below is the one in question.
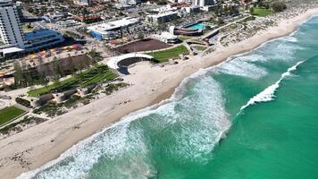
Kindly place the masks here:
POLYGON ((14 178, 43 166, 77 142, 119 121, 121 117, 170 98, 174 89, 191 73, 220 64, 230 55, 247 52, 272 38, 286 36, 313 14, 318 14, 318 9, 280 21, 276 27, 259 31, 252 38, 217 49, 204 57, 197 55, 179 64, 164 67, 147 63, 133 66, 131 74, 123 77, 124 81, 131 84, 130 88, 1 140, 1 178, 14 178))

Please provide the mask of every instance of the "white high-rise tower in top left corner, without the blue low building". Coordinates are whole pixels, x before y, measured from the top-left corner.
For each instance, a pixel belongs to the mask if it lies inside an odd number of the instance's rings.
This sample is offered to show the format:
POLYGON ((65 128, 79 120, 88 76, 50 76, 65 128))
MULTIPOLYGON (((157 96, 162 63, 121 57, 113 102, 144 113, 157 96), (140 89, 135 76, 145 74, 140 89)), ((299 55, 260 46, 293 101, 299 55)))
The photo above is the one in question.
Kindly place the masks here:
POLYGON ((0 0, 0 36, 7 46, 24 48, 21 21, 12 0, 0 0))

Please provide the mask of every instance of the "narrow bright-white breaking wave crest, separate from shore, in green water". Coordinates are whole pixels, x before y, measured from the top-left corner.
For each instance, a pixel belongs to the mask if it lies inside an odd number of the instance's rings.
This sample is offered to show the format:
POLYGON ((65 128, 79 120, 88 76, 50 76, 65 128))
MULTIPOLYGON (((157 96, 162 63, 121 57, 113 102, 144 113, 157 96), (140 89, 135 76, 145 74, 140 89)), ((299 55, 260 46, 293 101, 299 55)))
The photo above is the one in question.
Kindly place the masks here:
POLYGON ((276 81, 274 84, 272 84, 271 86, 267 87, 262 92, 255 95, 255 97, 250 98, 249 101, 247 102, 247 104, 244 105, 243 107, 241 107, 240 110, 244 110, 245 108, 252 106, 252 105, 255 105, 256 103, 259 103, 259 102, 266 102, 266 101, 273 100, 273 98, 275 98, 275 95, 274 95, 275 91, 278 88, 280 88, 280 82, 282 80, 284 80, 287 76, 289 76, 291 74, 291 72, 296 71, 297 66, 299 64, 302 64, 303 62, 304 61, 298 62, 294 66, 290 67, 287 72, 282 73, 279 81, 276 81))

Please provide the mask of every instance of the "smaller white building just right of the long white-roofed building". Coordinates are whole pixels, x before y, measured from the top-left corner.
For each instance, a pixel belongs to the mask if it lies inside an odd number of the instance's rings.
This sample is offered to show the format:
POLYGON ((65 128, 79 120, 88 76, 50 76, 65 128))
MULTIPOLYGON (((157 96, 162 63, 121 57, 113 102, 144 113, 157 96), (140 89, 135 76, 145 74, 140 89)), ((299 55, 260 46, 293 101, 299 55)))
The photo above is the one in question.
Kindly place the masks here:
POLYGON ((151 23, 165 23, 179 18, 177 12, 164 12, 146 16, 146 21, 151 23))

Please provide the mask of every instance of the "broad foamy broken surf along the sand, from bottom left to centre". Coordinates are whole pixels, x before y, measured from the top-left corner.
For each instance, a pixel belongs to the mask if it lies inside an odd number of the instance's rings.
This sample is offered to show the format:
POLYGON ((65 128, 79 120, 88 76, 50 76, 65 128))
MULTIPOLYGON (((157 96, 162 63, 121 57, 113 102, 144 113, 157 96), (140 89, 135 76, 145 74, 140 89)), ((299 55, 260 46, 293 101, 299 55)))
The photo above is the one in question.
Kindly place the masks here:
POLYGON ((59 158, 18 178, 146 179, 157 173, 150 153, 161 148, 173 158, 209 160, 214 145, 230 128, 230 121, 222 87, 206 75, 208 72, 209 69, 202 69, 192 74, 181 82, 172 98, 123 117, 113 126, 80 141, 59 158), (162 137, 149 139, 146 132, 162 137), (172 145, 161 141, 164 136, 170 136, 172 145))

